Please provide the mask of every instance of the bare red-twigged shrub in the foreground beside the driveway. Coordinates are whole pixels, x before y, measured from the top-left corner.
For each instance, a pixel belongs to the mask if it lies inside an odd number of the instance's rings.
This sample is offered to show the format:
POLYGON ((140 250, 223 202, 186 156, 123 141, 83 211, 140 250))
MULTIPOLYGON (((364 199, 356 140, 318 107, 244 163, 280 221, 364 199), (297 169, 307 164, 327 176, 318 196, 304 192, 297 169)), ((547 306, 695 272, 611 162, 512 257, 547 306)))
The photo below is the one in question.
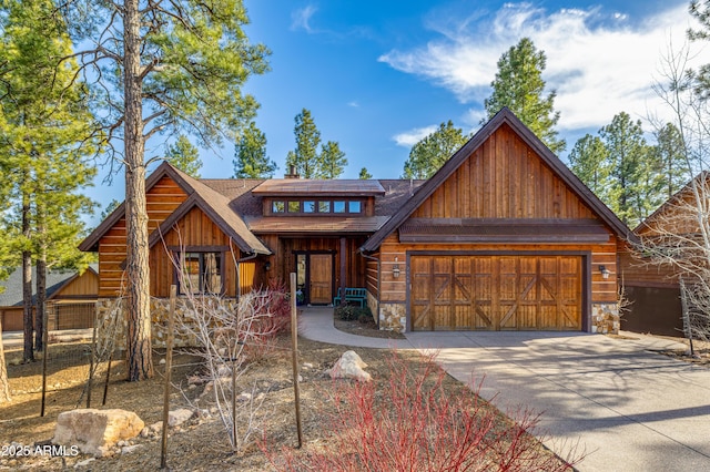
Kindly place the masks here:
MULTIPOLYGON (((290 451, 272 463, 301 471, 565 471, 580 459, 561 461, 529 434, 538 417, 516 420, 478 400, 470 390, 452 396, 446 373, 427 358, 419 368, 396 353, 389 379, 335 384, 333 437, 307 454, 290 451)), ((574 451, 572 451, 574 452, 574 451)), ((268 455, 268 453, 267 453, 268 455)))

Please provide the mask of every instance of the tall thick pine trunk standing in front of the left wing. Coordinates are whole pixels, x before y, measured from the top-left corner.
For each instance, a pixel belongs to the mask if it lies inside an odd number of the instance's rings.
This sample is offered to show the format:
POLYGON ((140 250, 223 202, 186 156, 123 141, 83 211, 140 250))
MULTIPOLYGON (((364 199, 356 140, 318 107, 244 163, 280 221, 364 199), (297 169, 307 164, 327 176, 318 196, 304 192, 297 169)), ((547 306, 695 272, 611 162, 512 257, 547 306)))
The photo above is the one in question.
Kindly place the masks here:
POLYGON ((124 2, 124 146, 128 380, 153 377, 151 358, 150 274, 148 212, 145 208, 145 160, 143 143, 140 16, 138 0, 124 2))

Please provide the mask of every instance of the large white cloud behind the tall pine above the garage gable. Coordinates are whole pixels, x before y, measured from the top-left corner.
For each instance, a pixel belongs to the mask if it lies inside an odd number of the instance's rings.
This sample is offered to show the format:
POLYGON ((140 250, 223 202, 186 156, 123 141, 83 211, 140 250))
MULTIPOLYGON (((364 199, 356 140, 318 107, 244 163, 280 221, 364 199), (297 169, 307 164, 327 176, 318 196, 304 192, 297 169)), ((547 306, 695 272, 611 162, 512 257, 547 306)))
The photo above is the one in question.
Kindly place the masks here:
MULTIPOLYGON (((692 20, 686 1, 635 24, 599 8, 548 12, 529 3, 506 3, 493 18, 478 16, 476 22, 470 18, 438 22, 433 28, 439 39, 390 51, 379 61, 450 90, 471 104, 474 117, 490 94, 500 55, 528 37, 547 55, 544 79, 557 91, 560 130, 600 127, 621 111, 643 119, 659 104, 652 85, 662 57, 671 41, 677 48, 684 43, 692 20)), ((697 55, 696 63, 710 63, 708 52, 697 55)))

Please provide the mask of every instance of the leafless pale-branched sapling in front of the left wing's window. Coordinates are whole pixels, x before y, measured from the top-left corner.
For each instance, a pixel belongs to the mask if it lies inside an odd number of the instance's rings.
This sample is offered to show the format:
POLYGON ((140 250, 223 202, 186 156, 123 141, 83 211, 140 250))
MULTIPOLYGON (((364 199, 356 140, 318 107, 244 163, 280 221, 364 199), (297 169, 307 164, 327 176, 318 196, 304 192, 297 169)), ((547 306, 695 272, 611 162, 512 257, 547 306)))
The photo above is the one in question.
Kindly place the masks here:
MULTIPOLYGON (((236 264, 234 254, 232 257, 236 264)), ((184 260, 173 261, 182 305, 181 315, 175 318, 176 335, 196 342, 199 350, 191 353, 196 353, 203 365, 202 374, 193 381, 204 383, 205 390, 193 404, 215 408, 230 445, 242 452, 261 431, 257 413, 262 401, 256 386, 245 386, 243 376, 253 365, 251 355, 264 355, 274 336, 288 328, 286 294, 253 290, 239 300, 230 300, 219 294, 200 293, 194 278, 182 270, 184 260)))

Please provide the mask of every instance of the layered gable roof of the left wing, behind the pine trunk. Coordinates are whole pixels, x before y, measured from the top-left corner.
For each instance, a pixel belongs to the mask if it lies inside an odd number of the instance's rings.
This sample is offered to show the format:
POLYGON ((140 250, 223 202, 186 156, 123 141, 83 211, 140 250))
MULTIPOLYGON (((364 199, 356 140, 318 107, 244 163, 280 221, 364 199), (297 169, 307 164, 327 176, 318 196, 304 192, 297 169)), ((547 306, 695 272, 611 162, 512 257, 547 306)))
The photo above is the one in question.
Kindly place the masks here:
MULTIPOLYGON (((186 194, 187 198, 163 220, 158 229, 150 235, 150 245, 153 246, 160 240, 161 234, 165 234, 170 228, 184 216, 190 209, 197 206, 212 220, 230 236, 243 253, 248 254, 271 254, 271 250, 258 238, 248 230, 244 220, 230 208, 230 199, 216 192, 201 181, 191 177, 184 172, 175 168, 168 162, 163 162, 145 179, 145 192, 160 182, 164 176, 172 178, 186 194)), ((81 250, 97 250, 101 237, 125 215, 125 202, 119 205, 80 245, 81 250)))

